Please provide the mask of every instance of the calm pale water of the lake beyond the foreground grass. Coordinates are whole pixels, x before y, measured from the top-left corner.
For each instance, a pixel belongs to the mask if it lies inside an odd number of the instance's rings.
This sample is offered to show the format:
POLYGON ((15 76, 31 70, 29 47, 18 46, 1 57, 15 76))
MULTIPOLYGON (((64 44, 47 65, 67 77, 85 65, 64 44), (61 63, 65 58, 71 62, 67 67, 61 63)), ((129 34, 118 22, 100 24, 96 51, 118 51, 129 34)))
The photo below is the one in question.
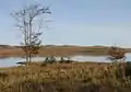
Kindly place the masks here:
MULTIPOLYGON (((131 61, 131 54, 127 54, 127 61, 131 61)), ((71 60, 75 61, 106 61, 107 56, 72 56, 71 60)), ((60 57, 57 57, 59 60, 60 57)), ((33 58, 33 61, 44 61, 44 57, 35 57, 33 58)), ((10 58, 0 58, 0 67, 12 67, 16 66, 16 62, 19 61, 25 61, 24 58, 15 58, 15 57, 10 57, 10 58)))

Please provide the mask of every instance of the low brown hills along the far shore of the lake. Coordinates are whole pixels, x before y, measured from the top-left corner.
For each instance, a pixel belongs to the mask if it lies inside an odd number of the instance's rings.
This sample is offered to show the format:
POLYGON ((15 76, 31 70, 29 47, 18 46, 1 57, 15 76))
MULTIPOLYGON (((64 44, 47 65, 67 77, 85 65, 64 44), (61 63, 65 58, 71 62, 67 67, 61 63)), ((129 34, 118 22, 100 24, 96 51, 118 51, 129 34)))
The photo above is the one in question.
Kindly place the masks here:
MULTIPOLYGON (((69 55, 107 55, 109 47, 106 46, 41 46, 39 56, 69 56, 69 55)), ((0 47, 0 57, 21 57, 24 51, 20 46, 0 47)), ((127 48, 127 53, 131 49, 127 48)))

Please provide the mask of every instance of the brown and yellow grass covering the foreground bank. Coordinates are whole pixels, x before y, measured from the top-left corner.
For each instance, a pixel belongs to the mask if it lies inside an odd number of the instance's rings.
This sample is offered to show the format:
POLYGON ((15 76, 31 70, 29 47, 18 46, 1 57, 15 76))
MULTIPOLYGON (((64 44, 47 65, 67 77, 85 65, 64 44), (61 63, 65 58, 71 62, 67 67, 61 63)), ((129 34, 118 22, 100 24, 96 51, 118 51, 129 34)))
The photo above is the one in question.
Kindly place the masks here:
POLYGON ((0 92, 130 92, 131 80, 117 72, 110 64, 96 62, 1 68, 0 92))

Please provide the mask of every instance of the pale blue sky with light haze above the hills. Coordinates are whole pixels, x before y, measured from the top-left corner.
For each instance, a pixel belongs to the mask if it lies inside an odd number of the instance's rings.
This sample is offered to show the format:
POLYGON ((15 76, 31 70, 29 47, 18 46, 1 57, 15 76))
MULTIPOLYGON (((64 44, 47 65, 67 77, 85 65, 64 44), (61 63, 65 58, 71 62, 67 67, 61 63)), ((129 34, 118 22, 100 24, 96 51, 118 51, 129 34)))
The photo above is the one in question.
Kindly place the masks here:
POLYGON ((0 44, 20 44, 10 13, 36 2, 52 12, 43 44, 131 47, 131 0, 0 0, 0 44))

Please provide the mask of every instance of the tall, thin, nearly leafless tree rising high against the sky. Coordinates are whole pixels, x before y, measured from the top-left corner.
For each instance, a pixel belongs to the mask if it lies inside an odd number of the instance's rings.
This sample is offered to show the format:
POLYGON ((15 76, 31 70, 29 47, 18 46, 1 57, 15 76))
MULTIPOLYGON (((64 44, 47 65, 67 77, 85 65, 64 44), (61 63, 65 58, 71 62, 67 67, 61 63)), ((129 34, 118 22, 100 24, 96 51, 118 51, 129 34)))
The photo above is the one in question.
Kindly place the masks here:
POLYGON ((27 62, 31 61, 32 56, 38 54, 41 44, 41 39, 39 39, 39 36, 43 34, 40 32, 41 21, 37 20, 41 18, 40 15, 50 13, 48 7, 40 7, 39 4, 31 4, 12 13, 16 21, 15 26, 23 35, 21 47, 25 53, 27 62))

